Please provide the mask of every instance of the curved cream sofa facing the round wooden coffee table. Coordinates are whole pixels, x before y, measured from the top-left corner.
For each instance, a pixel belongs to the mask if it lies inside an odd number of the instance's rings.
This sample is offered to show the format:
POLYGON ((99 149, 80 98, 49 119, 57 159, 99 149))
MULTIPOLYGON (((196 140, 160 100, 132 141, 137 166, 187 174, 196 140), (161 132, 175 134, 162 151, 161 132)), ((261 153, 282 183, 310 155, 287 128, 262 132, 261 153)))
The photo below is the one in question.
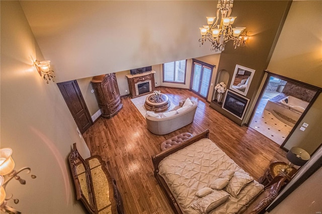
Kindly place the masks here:
MULTIPOLYGON (((185 100, 182 101, 185 102, 185 100)), ((155 135, 166 135, 191 124, 194 120, 198 106, 196 101, 191 100, 191 102, 192 105, 189 106, 189 108, 185 107, 185 104, 183 104, 183 107, 178 105, 167 113, 155 114, 155 116, 158 115, 159 117, 151 117, 151 114, 146 114, 145 120, 147 129, 155 135), (176 111, 175 115, 168 117, 164 116, 164 114, 169 115, 174 111, 176 111)))

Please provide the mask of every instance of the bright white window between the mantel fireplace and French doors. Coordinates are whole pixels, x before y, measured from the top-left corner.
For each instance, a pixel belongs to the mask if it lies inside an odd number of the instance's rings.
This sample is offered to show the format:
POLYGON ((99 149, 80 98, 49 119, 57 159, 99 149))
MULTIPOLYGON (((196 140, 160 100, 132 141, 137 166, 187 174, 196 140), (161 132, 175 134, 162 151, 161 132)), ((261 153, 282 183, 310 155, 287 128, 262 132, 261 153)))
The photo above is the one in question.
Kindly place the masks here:
POLYGON ((164 81, 184 83, 186 77, 186 60, 164 64, 164 81))

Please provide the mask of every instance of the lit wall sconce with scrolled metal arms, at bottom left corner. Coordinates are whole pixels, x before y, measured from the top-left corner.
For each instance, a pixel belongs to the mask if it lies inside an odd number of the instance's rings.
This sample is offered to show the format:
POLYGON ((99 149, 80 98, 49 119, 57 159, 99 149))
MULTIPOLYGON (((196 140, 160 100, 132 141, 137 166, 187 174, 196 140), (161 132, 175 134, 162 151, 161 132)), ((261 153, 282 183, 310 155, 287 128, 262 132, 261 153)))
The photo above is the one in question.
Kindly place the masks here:
MULTIPOLYGON (((0 149, 0 210, 8 213, 20 214, 21 212, 14 209, 13 207, 7 206, 7 201, 10 199, 14 200, 14 203, 19 203, 18 198, 13 198, 11 195, 9 198, 6 198, 6 185, 13 178, 18 180, 21 184, 26 184, 26 180, 22 179, 18 174, 24 170, 27 170, 27 173, 30 173, 29 167, 24 167, 19 171, 14 170, 15 162, 12 155, 12 149, 4 148, 0 149)), ((31 178, 36 178, 35 175, 31 175, 31 178)))

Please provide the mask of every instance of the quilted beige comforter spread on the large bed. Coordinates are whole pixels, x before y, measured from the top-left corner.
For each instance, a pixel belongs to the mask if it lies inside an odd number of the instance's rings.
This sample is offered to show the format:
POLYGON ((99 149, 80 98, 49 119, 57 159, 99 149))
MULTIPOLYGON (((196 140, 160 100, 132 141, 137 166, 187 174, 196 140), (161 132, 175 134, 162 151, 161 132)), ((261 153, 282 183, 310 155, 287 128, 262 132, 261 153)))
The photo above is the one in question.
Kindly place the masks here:
MULTIPOLYGON (((225 170, 238 171, 248 176, 248 173, 209 139, 202 139, 169 155, 159 163, 159 174, 167 182, 184 213, 198 213, 191 207, 198 198, 196 192, 203 187, 209 187, 225 170)), ((237 213, 263 188, 264 186, 257 181, 251 181, 240 190, 237 197, 230 195, 210 213, 237 213)))

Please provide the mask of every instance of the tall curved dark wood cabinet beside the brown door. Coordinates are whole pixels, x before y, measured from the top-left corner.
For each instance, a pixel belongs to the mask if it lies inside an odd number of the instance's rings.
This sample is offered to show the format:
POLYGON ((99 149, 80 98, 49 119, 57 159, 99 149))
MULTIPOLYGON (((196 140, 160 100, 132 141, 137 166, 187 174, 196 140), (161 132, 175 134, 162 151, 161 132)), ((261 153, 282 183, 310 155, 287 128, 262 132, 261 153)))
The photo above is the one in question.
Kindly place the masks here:
POLYGON ((102 117, 111 118, 116 115, 123 108, 123 104, 115 73, 94 76, 91 82, 102 111, 102 117))

